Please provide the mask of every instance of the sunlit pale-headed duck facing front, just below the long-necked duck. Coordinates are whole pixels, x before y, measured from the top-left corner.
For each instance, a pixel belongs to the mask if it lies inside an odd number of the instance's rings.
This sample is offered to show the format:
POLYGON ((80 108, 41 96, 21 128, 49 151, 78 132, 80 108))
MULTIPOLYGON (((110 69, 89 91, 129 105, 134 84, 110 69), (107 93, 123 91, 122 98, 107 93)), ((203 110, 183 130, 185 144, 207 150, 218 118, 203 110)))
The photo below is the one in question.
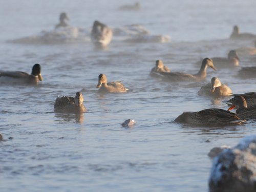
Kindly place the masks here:
POLYGON ((213 97, 231 96, 232 90, 225 84, 222 84, 218 77, 212 77, 211 83, 202 86, 198 94, 213 97))

